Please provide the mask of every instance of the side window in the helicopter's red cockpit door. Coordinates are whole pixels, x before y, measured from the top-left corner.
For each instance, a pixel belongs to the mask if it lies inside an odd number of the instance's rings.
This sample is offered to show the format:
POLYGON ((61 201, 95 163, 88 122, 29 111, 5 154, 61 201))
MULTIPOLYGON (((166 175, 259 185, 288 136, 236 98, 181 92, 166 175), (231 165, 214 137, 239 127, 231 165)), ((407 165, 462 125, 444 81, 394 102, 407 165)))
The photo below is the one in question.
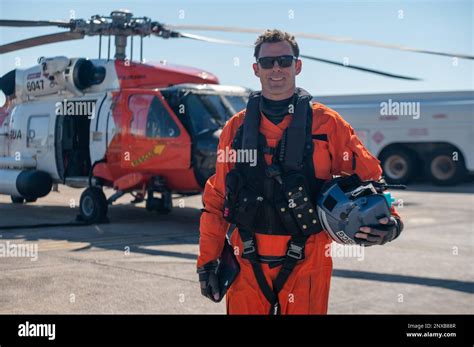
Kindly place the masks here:
POLYGON ((178 137, 179 128, 163 104, 154 95, 132 95, 129 108, 133 113, 130 132, 151 138, 178 137))

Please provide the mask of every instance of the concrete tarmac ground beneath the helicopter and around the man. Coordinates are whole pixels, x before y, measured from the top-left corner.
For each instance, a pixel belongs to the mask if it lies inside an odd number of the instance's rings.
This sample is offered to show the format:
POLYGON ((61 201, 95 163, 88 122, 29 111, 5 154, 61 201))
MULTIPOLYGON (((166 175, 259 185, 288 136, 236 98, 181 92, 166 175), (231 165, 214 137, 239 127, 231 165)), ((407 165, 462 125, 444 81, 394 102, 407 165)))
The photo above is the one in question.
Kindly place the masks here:
MULTIPOLYGON (((2 229, 73 221, 82 190, 59 190, 25 205, 0 196, 0 313, 225 313, 200 295, 201 196, 175 198, 169 215, 128 196, 107 224, 2 229)), ((393 195, 405 231, 362 255, 334 249, 329 313, 474 313, 474 183, 393 195)))

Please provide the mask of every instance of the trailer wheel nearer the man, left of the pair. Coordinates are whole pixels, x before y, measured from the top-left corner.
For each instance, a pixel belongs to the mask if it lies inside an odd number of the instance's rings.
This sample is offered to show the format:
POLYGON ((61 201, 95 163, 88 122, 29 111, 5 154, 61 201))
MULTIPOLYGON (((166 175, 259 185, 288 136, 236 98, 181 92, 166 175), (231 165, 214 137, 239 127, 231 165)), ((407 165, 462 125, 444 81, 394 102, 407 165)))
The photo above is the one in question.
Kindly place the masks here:
POLYGON ((415 156, 403 148, 389 149, 380 157, 385 180, 392 184, 406 184, 416 173, 415 156))

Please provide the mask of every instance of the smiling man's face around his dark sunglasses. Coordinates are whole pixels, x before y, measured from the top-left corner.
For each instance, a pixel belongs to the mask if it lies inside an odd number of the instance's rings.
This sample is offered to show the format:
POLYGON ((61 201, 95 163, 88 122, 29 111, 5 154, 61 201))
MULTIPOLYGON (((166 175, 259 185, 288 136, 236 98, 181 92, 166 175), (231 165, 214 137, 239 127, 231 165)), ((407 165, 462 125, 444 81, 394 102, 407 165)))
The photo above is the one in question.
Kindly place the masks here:
MULTIPOLYGON (((281 55, 294 55, 289 42, 265 42, 260 46, 259 58, 281 55)), ((275 62, 271 69, 263 69, 260 64, 254 63, 253 70, 255 76, 260 78, 263 96, 271 100, 291 97, 295 92, 295 79, 301 72, 301 65, 300 59, 285 68, 280 67, 278 62, 275 62)))

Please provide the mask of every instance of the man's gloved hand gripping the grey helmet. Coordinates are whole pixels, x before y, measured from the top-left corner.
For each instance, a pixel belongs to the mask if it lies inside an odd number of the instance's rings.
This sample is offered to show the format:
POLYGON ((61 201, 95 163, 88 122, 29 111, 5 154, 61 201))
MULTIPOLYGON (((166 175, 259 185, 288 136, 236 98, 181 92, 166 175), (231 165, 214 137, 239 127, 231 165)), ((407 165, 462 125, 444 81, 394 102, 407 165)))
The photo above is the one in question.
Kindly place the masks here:
POLYGON ((364 226, 355 234, 356 242, 362 246, 383 245, 395 240, 403 230, 403 223, 395 217, 379 219, 377 226, 364 226))

